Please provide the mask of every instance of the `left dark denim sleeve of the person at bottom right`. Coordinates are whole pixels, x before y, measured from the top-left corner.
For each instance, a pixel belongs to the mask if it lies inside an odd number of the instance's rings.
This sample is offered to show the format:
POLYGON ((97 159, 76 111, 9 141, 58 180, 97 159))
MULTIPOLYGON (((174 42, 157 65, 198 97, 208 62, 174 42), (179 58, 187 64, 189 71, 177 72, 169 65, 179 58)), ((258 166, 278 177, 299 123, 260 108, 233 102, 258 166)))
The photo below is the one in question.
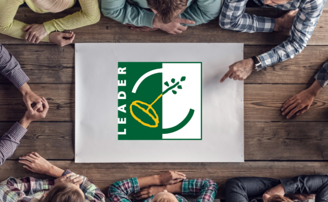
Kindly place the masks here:
POLYGON ((249 198, 261 197, 264 192, 280 184, 273 178, 241 177, 228 180, 226 202, 248 202, 249 198))

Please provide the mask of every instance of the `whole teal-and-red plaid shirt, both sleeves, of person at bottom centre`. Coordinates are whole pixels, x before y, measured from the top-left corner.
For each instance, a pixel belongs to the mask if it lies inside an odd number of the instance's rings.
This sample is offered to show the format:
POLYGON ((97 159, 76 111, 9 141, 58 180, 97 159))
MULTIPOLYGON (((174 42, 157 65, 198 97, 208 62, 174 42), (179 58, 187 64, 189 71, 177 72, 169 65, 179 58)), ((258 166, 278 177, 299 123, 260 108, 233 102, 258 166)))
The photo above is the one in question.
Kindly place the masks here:
MULTIPOLYGON (((218 185, 213 180, 195 179, 182 181, 182 195, 197 196, 197 202, 214 202, 218 185)), ((108 198, 111 202, 131 202, 129 195, 139 192, 137 178, 131 178, 112 184, 109 187, 108 198)), ((154 196, 145 200, 151 202, 154 196)), ((179 195, 175 195, 179 202, 188 202, 179 195)))

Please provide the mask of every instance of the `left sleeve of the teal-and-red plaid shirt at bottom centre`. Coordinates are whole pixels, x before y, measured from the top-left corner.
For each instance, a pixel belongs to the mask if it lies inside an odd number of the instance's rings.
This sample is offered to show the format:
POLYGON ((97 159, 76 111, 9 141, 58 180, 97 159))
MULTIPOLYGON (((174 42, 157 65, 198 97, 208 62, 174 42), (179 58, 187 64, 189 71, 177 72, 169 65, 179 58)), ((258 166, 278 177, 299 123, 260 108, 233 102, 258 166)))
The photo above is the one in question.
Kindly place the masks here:
POLYGON ((137 178, 122 180, 112 184, 108 190, 108 198, 111 202, 131 202, 129 195, 139 192, 137 178))

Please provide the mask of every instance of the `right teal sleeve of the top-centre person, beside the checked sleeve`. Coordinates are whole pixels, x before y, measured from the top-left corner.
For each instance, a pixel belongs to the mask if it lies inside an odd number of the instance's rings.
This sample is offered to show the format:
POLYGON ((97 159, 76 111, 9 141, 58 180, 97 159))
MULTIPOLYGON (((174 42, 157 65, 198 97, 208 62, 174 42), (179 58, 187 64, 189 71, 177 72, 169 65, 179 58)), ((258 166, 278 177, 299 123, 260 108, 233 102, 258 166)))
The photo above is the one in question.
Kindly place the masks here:
POLYGON ((207 23, 220 14, 221 2, 222 0, 197 0, 197 3, 192 3, 188 6, 180 14, 180 17, 196 22, 196 24, 188 24, 188 26, 207 23))

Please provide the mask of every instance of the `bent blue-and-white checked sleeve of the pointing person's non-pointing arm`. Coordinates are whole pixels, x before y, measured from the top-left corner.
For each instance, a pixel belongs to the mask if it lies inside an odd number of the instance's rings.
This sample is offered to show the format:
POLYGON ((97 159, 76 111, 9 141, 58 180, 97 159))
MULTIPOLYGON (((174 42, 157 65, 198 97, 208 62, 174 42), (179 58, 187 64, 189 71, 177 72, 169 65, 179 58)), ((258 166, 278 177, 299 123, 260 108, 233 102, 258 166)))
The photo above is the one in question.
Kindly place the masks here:
POLYGON ((272 32, 274 18, 245 13, 248 0, 224 0, 219 24, 237 32, 272 32))

